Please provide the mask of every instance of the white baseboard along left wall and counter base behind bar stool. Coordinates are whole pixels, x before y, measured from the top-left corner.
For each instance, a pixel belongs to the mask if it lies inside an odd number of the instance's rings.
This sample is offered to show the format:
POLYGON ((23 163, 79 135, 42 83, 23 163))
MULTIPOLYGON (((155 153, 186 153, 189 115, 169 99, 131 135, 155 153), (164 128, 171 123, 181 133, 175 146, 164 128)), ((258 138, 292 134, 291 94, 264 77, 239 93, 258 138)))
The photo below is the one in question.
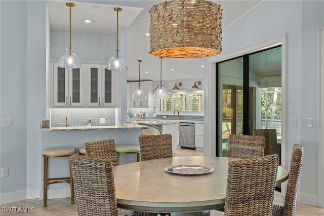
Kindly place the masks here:
MULTIPOLYGON (((47 198, 48 199, 56 199, 56 198, 65 198, 71 197, 70 188, 62 188, 62 189, 51 189, 47 190, 47 198)), ((43 200, 43 190, 39 189, 28 189, 26 191, 17 191, 8 194, 1 194, 0 196, 0 204, 7 204, 11 202, 18 202, 26 199, 41 199, 43 200)))

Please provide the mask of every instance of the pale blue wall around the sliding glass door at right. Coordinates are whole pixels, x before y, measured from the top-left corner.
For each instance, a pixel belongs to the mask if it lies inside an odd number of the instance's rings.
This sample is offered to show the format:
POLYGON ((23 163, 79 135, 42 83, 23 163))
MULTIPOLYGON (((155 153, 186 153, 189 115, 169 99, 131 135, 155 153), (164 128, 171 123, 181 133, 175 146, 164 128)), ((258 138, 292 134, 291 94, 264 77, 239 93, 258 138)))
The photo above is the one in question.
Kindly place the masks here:
MULTIPOLYGON (((227 53, 235 53, 235 50, 286 34, 287 53, 286 62, 283 62, 286 74, 282 80, 285 89, 283 124, 286 131, 283 165, 289 167, 292 146, 296 142, 301 143, 304 146, 304 160, 298 201, 312 205, 317 205, 318 29, 324 26, 323 11, 322 1, 266 1, 223 30, 223 51, 211 58, 212 70, 205 73, 212 79, 214 62, 227 53), (289 125, 292 117, 297 118, 297 127, 289 125), (306 126, 306 118, 313 118, 313 127, 306 126)), ((209 88, 215 91, 212 86, 209 88)), ((209 107, 213 107, 215 97, 211 97, 209 102, 209 107)), ((213 128, 209 131, 212 136, 215 123, 211 122, 210 127, 213 128)))

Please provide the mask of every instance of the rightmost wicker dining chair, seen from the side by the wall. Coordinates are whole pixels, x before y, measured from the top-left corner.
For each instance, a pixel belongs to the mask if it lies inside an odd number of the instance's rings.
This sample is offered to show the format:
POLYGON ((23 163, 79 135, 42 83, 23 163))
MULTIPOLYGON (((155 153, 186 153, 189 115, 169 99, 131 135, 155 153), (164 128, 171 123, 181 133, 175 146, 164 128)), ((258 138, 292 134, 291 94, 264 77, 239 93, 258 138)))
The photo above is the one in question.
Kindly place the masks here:
POLYGON ((293 146, 293 152, 288 173, 289 177, 286 189, 285 204, 283 206, 274 204, 272 206, 272 215, 295 215, 298 183, 300 173, 302 170, 303 155, 304 148, 298 143, 295 143, 293 146))

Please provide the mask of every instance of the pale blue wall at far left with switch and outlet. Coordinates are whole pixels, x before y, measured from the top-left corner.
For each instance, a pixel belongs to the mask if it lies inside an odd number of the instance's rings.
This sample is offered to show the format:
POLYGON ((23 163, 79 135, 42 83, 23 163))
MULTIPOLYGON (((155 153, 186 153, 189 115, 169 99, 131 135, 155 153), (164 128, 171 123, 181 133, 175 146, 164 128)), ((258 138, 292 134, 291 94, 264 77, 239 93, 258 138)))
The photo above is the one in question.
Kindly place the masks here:
POLYGON ((39 173, 40 160, 29 153, 40 151, 37 129, 46 115, 46 2, 0 4, 1 118, 12 118, 12 127, 0 129, 1 167, 9 168, 1 194, 26 197, 26 189, 39 185, 29 177, 39 173))

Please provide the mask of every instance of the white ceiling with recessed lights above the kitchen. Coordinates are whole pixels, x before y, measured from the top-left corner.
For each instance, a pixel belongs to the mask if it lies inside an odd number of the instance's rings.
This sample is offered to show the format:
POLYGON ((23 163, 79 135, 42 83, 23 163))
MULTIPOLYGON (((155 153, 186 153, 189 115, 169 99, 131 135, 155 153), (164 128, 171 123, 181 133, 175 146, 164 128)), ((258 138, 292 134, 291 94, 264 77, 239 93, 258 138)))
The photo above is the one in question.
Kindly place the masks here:
MULTIPOLYGON (((51 30, 68 31, 69 13, 63 0, 48 0, 48 10, 51 30)), ((113 8, 120 6, 119 27, 127 27, 127 55, 128 81, 138 80, 139 65, 141 59, 141 80, 159 81, 160 59, 150 55, 150 37, 146 36, 149 29, 149 10, 152 5, 165 1, 71 1, 75 7, 71 9, 71 28, 75 32, 87 33, 116 33, 116 12, 113 8), (85 19, 92 23, 84 23, 85 19), (103 27, 104 26, 104 27, 103 27), (145 73, 147 71, 147 73, 145 73)), ((226 29, 240 17, 253 10, 264 1, 213 1, 221 5, 223 9, 222 29, 226 29)), ((120 44, 120 42, 119 42, 120 44)), ((119 45, 123 46, 123 45, 119 45)), ((126 56, 125 56, 126 55, 126 56)), ((107 58, 108 59, 108 58, 107 58)), ((162 60, 163 81, 198 79, 204 77, 205 58, 175 59, 164 58, 162 60), (171 70, 173 68, 174 70, 171 70)), ((257 67, 258 65, 256 65, 257 67)), ((271 70, 271 68, 269 68, 271 70)))

